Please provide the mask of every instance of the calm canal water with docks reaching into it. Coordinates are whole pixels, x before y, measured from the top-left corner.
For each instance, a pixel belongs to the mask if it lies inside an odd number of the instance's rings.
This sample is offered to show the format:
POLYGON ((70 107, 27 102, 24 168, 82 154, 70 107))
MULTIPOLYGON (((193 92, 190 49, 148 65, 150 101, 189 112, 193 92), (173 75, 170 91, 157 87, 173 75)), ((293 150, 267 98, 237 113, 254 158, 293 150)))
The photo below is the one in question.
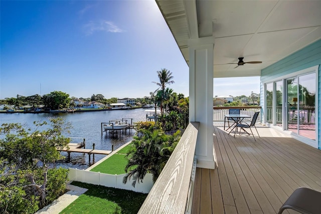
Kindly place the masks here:
MULTIPOLYGON (((21 123, 30 128, 34 128, 34 121, 48 121, 50 117, 62 117, 70 122, 73 126, 70 134, 64 134, 67 137, 81 137, 86 140, 86 148, 92 148, 95 143, 95 149, 111 150, 112 144, 114 149, 119 148, 124 143, 130 141, 135 131, 127 130, 126 134, 120 134, 112 137, 109 133, 103 132, 101 136, 101 123, 109 122, 109 120, 133 118, 133 123, 137 121, 146 121, 145 109, 133 110, 111 110, 111 111, 97 111, 97 112, 75 112, 73 114, 59 113, 59 114, 26 114, 26 113, 4 113, 0 114, 0 124, 3 123, 21 123)), ((129 121, 130 123, 130 121, 129 121)), ((81 142, 81 139, 71 138, 71 142, 81 142)), ((85 169, 93 164, 93 155, 91 155, 91 163, 89 163, 88 154, 72 152, 70 160, 68 160, 67 152, 62 152, 66 157, 64 161, 57 165, 68 168, 85 169)), ((105 157, 105 155, 95 154, 95 162, 105 157)))

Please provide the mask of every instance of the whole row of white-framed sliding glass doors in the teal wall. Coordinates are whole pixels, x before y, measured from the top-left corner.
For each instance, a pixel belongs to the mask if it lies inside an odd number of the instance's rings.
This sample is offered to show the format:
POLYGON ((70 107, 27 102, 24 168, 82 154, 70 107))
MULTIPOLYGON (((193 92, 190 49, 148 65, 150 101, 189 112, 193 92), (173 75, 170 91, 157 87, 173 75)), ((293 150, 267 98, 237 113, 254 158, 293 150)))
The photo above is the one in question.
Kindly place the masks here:
POLYGON ((313 69, 266 83, 264 115, 265 122, 315 141, 317 68, 313 69))

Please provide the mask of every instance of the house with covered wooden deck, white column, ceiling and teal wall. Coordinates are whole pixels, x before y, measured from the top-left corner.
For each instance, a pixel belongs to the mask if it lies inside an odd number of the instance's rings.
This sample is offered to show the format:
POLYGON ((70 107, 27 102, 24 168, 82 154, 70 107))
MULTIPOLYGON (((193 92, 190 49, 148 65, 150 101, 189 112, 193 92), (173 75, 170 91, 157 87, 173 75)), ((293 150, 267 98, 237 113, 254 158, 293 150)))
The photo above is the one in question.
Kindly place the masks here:
POLYGON ((299 186, 321 191, 321 1, 156 4, 189 65, 191 123, 139 213, 276 213, 299 186), (250 76, 256 141, 213 126, 213 78, 250 76))

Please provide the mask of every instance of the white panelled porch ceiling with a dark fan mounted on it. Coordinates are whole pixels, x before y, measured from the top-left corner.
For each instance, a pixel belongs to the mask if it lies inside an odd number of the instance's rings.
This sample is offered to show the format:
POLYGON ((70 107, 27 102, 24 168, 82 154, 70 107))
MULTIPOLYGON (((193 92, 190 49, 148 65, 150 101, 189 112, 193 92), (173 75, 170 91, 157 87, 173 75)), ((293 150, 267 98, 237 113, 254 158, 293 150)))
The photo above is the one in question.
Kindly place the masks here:
POLYGON ((262 69, 321 39, 321 1, 156 3, 188 64, 188 40, 213 36, 214 78, 260 76, 262 69), (228 64, 239 57, 263 63, 228 64))

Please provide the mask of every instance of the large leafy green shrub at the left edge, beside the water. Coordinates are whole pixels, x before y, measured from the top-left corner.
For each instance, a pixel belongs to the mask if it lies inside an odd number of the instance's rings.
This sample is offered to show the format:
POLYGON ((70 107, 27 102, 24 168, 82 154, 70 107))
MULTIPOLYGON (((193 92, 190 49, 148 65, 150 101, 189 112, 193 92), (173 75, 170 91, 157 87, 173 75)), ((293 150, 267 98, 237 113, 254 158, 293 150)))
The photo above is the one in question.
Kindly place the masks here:
POLYGON ((69 143, 62 131, 70 126, 50 121, 47 129, 35 122, 32 133, 18 123, 0 127, 0 213, 34 213, 64 193, 68 169, 54 163, 63 158, 57 148, 69 143))

